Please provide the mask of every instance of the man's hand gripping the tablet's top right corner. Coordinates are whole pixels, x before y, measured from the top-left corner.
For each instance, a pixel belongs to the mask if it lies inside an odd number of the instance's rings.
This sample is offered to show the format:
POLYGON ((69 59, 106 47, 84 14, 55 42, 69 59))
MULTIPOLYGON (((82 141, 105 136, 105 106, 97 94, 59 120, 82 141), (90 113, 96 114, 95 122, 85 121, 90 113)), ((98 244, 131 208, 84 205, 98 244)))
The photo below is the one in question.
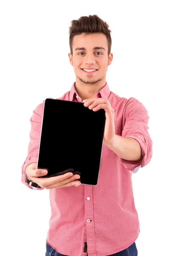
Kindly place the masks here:
POLYGON ((105 122, 105 131, 104 131, 104 144, 111 144, 115 137, 115 125, 114 125, 114 110, 111 107, 108 99, 84 99, 84 106, 88 107, 93 111, 98 111, 99 109, 105 110, 106 122, 105 122))

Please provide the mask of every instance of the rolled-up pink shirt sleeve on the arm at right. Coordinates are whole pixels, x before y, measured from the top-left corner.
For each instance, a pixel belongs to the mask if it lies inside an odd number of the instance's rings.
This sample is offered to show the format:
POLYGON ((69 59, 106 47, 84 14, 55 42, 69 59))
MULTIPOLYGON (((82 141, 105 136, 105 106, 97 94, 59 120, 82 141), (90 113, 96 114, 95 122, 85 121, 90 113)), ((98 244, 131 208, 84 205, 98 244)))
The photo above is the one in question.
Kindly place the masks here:
POLYGON ((148 133, 148 120, 148 111, 144 105, 133 97, 129 98, 125 107, 125 126, 122 137, 133 138, 139 142, 142 160, 137 162, 124 160, 121 157, 119 160, 131 173, 136 173, 140 167, 146 166, 152 157, 153 142, 148 133))

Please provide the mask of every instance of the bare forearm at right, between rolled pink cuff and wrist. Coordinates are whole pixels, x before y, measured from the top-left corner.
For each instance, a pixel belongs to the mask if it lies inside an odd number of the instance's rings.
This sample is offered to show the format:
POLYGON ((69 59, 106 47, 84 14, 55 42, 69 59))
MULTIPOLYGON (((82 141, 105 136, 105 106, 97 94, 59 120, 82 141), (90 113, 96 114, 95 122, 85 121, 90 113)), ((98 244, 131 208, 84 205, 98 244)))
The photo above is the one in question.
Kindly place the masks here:
POLYGON ((133 138, 124 138, 115 134, 113 142, 107 146, 122 159, 139 162, 143 158, 141 146, 133 138))

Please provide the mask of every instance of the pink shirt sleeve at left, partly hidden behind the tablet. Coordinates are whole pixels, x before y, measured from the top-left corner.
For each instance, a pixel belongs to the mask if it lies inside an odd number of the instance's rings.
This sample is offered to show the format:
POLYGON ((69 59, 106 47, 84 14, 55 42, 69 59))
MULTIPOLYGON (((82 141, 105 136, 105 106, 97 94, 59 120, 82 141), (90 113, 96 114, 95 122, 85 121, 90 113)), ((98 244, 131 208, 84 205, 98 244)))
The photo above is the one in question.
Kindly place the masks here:
MULTIPOLYGON (((26 160, 24 161, 21 167, 22 169, 21 181, 29 189, 33 189, 33 188, 26 183, 25 169, 26 169, 26 166, 28 166, 28 164, 37 163, 38 161, 43 109, 44 109, 44 101, 43 103, 39 104, 37 108, 35 108, 30 118, 31 131, 29 134, 30 142, 28 144, 28 154, 27 154, 26 160)), ((44 188, 40 188, 38 190, 42 190, 42 189, 44 188)))

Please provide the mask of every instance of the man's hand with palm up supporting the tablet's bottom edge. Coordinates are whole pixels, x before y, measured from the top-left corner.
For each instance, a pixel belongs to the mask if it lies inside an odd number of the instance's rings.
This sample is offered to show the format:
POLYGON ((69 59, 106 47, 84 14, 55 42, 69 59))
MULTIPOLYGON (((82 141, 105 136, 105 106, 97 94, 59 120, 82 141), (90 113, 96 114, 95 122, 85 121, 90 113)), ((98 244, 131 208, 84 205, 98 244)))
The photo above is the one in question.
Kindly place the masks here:
POLYGON ((54 189, 54 188, 64 188, 67 186, 76 186, 76 184, 81 185, 79 180, 79 175, 73 175, 72 172, 65 173, 64 175, 59 175, 56 177, 49 178, 37 178, 47 175, 47 170, 37 169, 37 163, 31 163, 26 167, 25 170, 28 180, 32 180, 37 183, 39 186, 45 189, 54 189))

